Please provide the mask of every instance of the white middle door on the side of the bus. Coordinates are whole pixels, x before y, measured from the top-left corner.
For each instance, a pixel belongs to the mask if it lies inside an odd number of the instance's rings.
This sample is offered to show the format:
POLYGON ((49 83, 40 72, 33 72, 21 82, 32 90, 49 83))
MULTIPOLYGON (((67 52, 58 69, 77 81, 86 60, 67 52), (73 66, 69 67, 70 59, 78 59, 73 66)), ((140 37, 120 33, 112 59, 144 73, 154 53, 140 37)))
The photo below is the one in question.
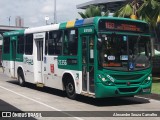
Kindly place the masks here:
MULTIPOLYGON (((36 83, 44 83, 43 81, 43 41, 45 33, 34 34, 34 81, 36 83)), ((34 48, 33 47, 33 48, 34 48)))

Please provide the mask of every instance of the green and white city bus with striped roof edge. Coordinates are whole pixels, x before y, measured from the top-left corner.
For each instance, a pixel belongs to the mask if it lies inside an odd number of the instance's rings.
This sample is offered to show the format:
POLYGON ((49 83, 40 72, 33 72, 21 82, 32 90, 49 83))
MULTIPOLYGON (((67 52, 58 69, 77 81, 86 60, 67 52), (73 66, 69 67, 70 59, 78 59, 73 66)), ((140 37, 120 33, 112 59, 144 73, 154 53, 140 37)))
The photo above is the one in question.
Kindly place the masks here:
POLYGON ((4 73, 38 87, 93 98, 149 94, 151 40, 146 22, 93 17, 3 34, 4 73))

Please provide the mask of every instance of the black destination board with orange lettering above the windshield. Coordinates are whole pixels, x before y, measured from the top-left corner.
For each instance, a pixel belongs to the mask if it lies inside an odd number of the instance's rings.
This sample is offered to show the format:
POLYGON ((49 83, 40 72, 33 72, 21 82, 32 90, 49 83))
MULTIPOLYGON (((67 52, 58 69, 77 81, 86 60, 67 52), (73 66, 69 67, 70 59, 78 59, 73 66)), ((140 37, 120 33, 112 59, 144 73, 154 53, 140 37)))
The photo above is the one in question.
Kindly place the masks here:
POLYGON ((119 32, 135 32, 135 33, 149 33, 148 24, 137 21, 128 20, 106 20, 99 21, 99 31, 119 31, 119 32))

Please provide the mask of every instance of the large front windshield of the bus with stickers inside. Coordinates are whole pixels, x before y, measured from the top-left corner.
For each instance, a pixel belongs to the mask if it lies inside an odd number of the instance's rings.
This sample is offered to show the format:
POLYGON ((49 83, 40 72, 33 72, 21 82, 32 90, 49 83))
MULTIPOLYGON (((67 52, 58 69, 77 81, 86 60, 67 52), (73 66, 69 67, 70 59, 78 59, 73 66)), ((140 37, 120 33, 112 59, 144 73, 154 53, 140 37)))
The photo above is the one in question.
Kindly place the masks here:
POLYGON ((150 37, 101 34, 100 66, 107 69, 134 71, 150 67, 150 37))

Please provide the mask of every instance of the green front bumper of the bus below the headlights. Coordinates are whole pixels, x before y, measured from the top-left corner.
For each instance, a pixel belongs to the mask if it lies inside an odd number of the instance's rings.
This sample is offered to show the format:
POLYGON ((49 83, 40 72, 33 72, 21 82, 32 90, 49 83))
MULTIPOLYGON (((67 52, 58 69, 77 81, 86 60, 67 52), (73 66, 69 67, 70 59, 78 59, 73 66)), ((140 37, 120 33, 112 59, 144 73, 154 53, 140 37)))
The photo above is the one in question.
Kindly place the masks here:
POLYGON ((132 86, 106 86, 102 83, 95 85, 95 97, 120 97, 120 96, 134 96, 138 94, 150 94, 152 81, 145 85, 132 86))

